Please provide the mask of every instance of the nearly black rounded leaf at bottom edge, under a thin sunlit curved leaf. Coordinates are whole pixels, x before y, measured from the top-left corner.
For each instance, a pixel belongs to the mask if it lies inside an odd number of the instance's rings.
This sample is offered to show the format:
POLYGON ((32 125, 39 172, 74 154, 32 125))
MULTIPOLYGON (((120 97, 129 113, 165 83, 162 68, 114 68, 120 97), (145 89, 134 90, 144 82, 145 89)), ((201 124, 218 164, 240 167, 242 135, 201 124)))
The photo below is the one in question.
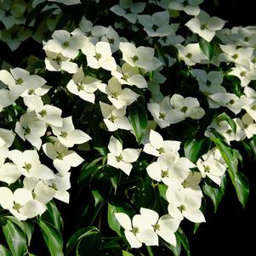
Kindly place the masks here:
POLYGON ((83 236, 77 244, 76 256, 97 256, 100 253, 102 236, 100 231, 83 236))

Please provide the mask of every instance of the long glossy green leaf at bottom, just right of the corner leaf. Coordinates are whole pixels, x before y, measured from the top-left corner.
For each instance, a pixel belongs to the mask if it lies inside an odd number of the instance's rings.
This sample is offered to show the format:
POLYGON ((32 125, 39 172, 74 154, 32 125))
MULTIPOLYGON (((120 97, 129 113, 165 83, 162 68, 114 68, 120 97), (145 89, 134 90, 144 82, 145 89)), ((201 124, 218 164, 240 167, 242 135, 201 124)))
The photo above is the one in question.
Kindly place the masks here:
POLYGON ((42 231, 43 239, 47 244, 51 256, 62 256, 63 241, 59 230, 43 220, 39 220, 38 225, 42 231))

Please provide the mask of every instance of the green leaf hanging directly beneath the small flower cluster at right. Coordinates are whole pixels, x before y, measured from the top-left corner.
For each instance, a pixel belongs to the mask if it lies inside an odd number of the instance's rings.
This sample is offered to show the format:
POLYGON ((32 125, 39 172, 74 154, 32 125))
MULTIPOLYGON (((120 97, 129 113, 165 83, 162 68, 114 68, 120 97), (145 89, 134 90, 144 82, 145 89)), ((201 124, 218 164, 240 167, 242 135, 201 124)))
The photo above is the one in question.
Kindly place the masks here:
POLYGON ((214 205, 214 213, 216 213, 217 208, 219 207, 219 202, 221 202, 222 197, 225 194, 225 186, 226 186, 226 177, 225 175, 221 178, 221 185, 216 186, 213 183, 208 184, 205 182, 204 185, 202 185, 202 190, 204 194, 209 196, 212 199, 213 205, 214 205))

